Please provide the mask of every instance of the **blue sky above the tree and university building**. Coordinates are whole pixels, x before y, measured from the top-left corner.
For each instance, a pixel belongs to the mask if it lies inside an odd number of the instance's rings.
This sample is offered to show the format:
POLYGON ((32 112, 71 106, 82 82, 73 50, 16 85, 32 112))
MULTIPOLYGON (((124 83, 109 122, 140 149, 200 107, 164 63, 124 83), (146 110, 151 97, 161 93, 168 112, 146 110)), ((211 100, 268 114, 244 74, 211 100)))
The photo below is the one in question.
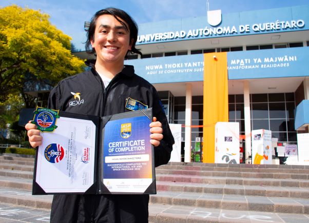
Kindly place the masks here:
MULTIPOLYGON (((209 10, 221 9, 222 14, 309 5, 309 0, 208 0, 209 10)), ((137 24, 206 16, 207 0, 2 0, 1 7, 18 5, 41 10, 50 15, 50 22, 72 37, 75 48, 84 50, 85 21, 107 7, 129 13, 137 24)))

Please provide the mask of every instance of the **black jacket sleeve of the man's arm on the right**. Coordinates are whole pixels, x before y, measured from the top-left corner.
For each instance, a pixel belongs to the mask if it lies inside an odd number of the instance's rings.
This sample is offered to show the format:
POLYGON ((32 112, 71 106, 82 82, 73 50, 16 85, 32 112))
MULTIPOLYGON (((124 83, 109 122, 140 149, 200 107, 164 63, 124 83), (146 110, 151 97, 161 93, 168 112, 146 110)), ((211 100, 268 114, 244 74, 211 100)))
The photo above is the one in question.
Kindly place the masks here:
POLYGON ((154 147, 154 164, 156 167, 167 164, 170 159, 170 153, 172 151, 172 145, 175 143, 174 138, 169 129, 168 121, 158 96, 158 93, 153 89, 153 117, 157 117, 157 120, 161 122, 163 129, 163 139, 160 141, 160 145, 154 147))

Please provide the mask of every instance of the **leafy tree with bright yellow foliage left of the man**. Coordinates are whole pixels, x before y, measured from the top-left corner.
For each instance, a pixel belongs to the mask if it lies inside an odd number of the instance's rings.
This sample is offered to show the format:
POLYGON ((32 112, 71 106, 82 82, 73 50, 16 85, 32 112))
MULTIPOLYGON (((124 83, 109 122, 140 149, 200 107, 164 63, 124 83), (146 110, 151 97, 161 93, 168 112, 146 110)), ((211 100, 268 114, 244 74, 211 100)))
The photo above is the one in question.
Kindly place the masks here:
POLYGON ((0 102, 23 93, 27 74, 53 86, 83 70, 83 60, 71 54, 71 38, 48 19, 16 5, 0 8, 0 102))

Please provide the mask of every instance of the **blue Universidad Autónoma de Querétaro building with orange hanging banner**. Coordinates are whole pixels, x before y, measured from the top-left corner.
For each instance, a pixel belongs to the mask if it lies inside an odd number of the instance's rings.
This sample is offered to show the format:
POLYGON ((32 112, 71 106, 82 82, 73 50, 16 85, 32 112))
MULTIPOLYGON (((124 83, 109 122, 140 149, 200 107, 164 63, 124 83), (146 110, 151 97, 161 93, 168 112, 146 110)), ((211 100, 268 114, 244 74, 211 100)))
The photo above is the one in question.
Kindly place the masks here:
POLYGON ((190 151, 203 138, 201 161, 214 163, 217 121, 239 123, 242 162, 252 155, 252 130, 271 130, 278 146, 309 132, 308 11, 215 10, 139 24, 143 56, 125 64, 156 87, 169 123, 182 125, 182 161, 200 161, 190 151))

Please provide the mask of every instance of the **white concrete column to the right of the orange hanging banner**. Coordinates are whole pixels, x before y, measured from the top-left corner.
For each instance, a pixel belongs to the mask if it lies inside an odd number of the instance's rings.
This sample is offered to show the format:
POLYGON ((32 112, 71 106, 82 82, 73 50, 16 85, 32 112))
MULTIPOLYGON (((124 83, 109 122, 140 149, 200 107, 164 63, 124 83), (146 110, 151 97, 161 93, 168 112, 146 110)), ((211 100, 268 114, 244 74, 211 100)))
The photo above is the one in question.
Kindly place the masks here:
POLYGON ((252 155, 251 152, 251 118, 250 118, 250 91, 249 82, 244 80, 243 82, 244 90, 244 115, 245 115, 245 145, 246 145, 246 164, 249 163, 249 156, 252 155))

